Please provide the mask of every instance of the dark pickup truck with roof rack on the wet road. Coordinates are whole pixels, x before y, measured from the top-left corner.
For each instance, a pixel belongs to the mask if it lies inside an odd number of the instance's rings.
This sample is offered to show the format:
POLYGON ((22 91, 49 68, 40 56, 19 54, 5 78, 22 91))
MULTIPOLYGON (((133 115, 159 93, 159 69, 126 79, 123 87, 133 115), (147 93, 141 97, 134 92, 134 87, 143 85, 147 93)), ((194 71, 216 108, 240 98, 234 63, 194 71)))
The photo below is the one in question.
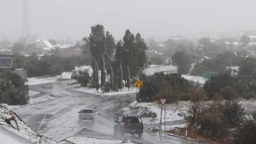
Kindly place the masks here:
POLYGON ((124 134, 138 134, 138 137, 141 137, 143 127, 141 116, 123 115, 119 118, 119 120, 115 121, 114 135, 120 134, 123 136, 124 134))

